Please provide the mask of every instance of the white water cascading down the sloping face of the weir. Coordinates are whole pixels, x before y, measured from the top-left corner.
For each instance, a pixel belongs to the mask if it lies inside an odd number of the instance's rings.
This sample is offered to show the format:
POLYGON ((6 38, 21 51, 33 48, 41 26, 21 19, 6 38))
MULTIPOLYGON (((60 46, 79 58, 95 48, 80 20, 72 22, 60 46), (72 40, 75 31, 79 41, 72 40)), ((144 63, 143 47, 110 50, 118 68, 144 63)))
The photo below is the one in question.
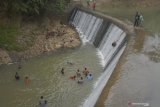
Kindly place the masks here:
POLYGON ((70 17, 70 24, 77 29, 83 42, 93 44, 97 36, 102 36, 102 39, 98 40, 97 53, 101 58, 104 71, 95 83, 90 96, 81 105, 82 107, 95 105, 126 47, 126 33, 115 24, 111 23, 109 28, 106 27, 104 35, 98 33, 104 21, 102 18, 76 9, 70 17))

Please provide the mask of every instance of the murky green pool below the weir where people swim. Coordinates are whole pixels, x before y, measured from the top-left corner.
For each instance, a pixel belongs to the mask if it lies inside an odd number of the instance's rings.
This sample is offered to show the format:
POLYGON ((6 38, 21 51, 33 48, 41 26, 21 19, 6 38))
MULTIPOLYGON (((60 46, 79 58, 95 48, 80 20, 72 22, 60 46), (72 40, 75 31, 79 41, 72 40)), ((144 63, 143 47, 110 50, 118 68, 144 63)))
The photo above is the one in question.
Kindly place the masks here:
POLYGON ((48 100, 47 107, 77 107, 90 94, 93 83, 101 74, 102 67, 93 46, 85 45, 76 50, 57 51, 18 64, 0 66, 0 107, 37 107, 39 97, 48 100), (71 62, 67 63, 67 62, 71 62), (64 75, 60 70, 64 67, 64 75), (84 79, 79 85, 69 79, 77 69, 87 67, 93 74, 93 81, 84 79), (15 72, 20 80, 14 79, 15 72), (24 77, 30 83, 25 86, 24 77))

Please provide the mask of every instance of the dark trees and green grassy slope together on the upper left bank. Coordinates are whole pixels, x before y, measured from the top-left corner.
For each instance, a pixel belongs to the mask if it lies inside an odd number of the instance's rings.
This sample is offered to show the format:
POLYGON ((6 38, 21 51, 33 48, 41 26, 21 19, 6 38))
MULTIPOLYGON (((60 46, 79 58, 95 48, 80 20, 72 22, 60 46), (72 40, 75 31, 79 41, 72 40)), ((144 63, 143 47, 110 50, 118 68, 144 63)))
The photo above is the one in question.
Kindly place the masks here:
POLYGON ((21 21, 27 18, 37 21, 49 13, 62 14, 68 3, 70 0, 0 0, 0 48, 22 51, 32 46, 35 40, 34 29, 31 25, 28 28, 30 32, 22 30, 18 27, 21 21))

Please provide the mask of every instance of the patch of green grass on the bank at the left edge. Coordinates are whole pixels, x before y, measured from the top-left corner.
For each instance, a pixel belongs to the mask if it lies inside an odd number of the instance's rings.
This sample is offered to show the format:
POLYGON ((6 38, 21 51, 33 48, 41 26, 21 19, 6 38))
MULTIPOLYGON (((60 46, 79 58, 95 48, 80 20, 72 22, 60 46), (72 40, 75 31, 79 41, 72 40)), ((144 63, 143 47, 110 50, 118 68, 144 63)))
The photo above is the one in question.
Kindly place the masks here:
POLYGON ((17 38, 20 35, 20 30, 14 25, 0 26, 0 48, 5 48, 8 51, 23 50, 23 46, 17 42, 17 38))

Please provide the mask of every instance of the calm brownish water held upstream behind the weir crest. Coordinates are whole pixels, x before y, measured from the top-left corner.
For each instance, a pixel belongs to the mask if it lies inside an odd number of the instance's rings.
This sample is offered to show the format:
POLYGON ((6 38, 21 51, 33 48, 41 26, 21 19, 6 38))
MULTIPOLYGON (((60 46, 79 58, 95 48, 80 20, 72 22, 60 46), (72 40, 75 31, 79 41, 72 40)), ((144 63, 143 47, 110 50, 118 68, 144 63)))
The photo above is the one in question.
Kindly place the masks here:
POLYGON ((124 21, 134 22, 137 11, 144 16, 144 31, 136 30, 136 36, 128 44, 129 50, 111 76, 96 107, 159 107, 160 103, 160 10, 159 7, 97 7, 98 11, 124 21), (138 32, 137 32, 138 31, 138 32), (109 95, 108 95, 109 94, 109 95), (108 98, 107 98, 108 96, 108 98), (99 104, 98 104, 99 103, 99 104))

